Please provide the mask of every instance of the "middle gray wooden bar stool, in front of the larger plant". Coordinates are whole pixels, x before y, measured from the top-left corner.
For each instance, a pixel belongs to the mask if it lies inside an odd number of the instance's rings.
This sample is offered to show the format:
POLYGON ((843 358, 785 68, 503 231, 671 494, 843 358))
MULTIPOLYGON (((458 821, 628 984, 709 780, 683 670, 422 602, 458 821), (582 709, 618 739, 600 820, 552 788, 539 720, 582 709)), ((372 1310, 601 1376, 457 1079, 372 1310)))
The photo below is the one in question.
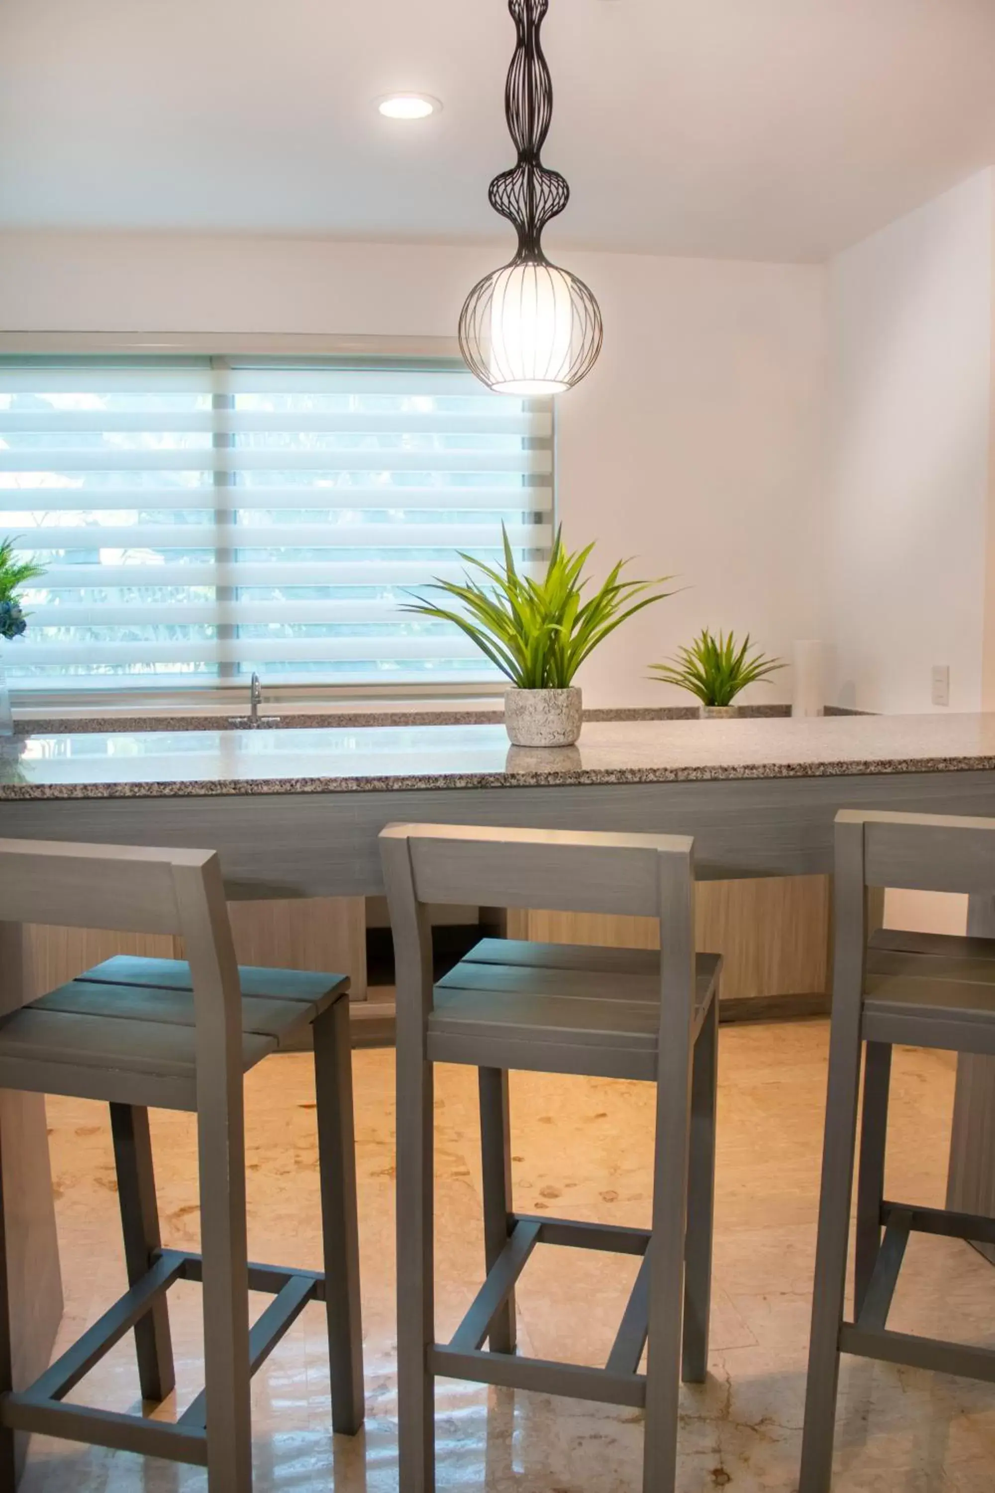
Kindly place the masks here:
POLYGON ((394 824, 380 853, 397 957, 401 1493, 434 1487, 436 1375, 643 1406, 643 1486, 665 1493, 682 1371, 704 1380, 709 1353, 721 960, 695 957, 694 842, 394 824), (467 902, 655 917, 665 953, 485 939, 433 987, 427 903, 467 902), (471 1063, 480 1093, 486 1280, 448 1344, 433 1306, 434 1063, 471 1063), (510 1067, 656 1084, 652 1229, 513 1211, 510 1067), (604 1368, 516 1356, 515 1282, 540 1244, 641 1256, 604 1368))

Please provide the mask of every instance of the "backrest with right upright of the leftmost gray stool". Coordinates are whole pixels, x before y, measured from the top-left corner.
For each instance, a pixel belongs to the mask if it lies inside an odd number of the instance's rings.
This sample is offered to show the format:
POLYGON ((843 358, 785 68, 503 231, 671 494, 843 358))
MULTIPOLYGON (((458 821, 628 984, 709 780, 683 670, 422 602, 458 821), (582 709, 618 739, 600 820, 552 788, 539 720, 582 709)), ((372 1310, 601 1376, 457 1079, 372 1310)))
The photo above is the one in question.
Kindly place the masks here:
POLYGON ((240 1115, 242 991, 215 851, 0 839, 0 921, 179 935, 194 987, 198 1096, 203 1082, 209 1105, 212 1085, 213 1096, 228 1085, 240 1115))

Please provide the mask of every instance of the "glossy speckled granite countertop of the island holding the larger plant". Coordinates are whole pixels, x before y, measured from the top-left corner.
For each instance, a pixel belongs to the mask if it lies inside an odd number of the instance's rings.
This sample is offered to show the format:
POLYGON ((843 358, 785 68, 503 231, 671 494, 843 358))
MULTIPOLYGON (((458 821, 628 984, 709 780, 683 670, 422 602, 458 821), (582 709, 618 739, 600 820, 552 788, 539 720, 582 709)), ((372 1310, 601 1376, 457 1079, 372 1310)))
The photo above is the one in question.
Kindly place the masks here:
POLYGON ((0 799, 707 782, 995 769, 992 715, 588 721, 577 746, 501 726, 60 733, 7 739, 0 799))

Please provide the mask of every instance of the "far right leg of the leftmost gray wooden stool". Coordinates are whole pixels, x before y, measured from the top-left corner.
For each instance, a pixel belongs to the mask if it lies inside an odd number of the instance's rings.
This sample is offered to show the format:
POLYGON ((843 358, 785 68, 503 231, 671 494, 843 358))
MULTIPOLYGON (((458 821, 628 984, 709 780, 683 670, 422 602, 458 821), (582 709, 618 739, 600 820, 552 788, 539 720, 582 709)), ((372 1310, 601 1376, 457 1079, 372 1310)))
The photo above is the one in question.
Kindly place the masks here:
POLYGON ((321 1226, 325 1248, 325 1309, 331 1363, 331 1427, 355 1436, 362 1424, 362 1315, 357 1156, 352 1121, 352 1038, 349 1000, 318 1017, 315 1094, 321 1226))

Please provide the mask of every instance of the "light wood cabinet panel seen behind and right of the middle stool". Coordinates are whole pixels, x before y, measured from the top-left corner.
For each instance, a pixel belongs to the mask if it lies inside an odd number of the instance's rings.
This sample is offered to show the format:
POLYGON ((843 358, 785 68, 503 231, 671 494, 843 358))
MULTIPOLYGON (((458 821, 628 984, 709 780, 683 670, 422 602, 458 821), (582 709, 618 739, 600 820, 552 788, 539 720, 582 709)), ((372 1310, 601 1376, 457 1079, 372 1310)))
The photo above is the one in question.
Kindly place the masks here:
MULTIPOLYGON (((698 950, 724 956, 722 999, 822 996, 828 990, 829 878, 703 881, 695 890, 698 950)), ((658 948, 653 918, 509 912, 509 938, 658 948)))

